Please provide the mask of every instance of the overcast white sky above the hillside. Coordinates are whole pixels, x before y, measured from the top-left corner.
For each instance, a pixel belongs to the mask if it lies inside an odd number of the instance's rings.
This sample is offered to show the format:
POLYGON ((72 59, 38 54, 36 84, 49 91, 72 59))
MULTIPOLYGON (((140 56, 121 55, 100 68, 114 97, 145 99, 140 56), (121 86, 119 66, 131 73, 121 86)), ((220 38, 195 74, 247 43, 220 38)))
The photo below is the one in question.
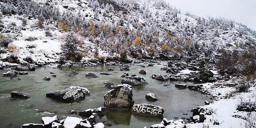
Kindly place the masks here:
POLYGON ((165 0, 196 16, 217 17, 247 25, 256 31, 256 0, 165 0))

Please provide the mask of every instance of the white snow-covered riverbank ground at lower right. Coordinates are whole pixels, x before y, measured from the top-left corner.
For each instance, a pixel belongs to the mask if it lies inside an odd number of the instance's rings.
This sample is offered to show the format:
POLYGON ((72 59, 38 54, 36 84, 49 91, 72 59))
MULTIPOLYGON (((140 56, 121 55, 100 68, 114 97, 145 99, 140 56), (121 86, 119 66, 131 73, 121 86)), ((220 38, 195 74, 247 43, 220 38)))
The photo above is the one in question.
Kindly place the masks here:
MULTIPOLYGON (((183 70, 183 72, 189 72, 183 70)), ((232 80, 222 81, 222 84, 231 83, 232 80)), ((256 127, 256 111, 245 112, 238 111, 237 105, 241 102, 256 102, 256 84, 251 85, 247 93, 234 93, 235 87, 227 87, 221 85, 218 88, 212 88, 219 82, 203 84, 204 89, 208 90, 212 96, 216 96, 215 99, 209 101, 209 105, 198 106, 203 108, 205 120, 203 123, 184 124, 182 120, 168 119, 170 125, 165 128, 255 128, 256 127), (211 114, 207 114, 211 113, 211 114), (250 123, 251 122, 251 123, 250 123), (249 127, 251 125, 251 127, 249 127)), ((199 116, 194 116, 193 119, 198 119, 199 116)), ((161 124, 153 125, 154 127, 160 127, 161 124)))

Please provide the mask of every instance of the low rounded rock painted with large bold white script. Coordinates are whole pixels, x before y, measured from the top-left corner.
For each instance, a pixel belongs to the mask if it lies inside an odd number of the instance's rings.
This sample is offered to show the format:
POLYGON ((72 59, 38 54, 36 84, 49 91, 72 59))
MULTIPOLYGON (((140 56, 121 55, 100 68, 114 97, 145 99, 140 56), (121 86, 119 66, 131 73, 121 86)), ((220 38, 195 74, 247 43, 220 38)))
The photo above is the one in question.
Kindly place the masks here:
POLYGON ((136 104, 131 108, 131 113, 141 116, 160 117, 162 116, 163 108, 151 104, 136 104))

